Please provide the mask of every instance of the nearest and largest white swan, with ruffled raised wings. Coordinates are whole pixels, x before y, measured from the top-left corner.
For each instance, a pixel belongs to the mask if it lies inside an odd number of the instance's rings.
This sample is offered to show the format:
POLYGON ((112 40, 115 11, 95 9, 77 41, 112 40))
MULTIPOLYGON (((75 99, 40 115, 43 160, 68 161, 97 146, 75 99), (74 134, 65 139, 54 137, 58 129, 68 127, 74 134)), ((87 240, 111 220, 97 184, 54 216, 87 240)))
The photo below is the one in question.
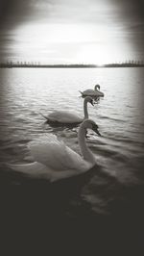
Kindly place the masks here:
POLYGON ((80 156, 63 141, 59 141, 53 134, 48 134, 29 143, 29 148, 35 162, 25 165, 7 164, 17 172, 34 178, 44 178, 50 182, 79 175, 96 165, 95 156, 88 149, 85 142, 87 129, 92 129, 97 135, 98 125, 91 119, 85 119, 80 125, 78 141, 83 156, 80 156))

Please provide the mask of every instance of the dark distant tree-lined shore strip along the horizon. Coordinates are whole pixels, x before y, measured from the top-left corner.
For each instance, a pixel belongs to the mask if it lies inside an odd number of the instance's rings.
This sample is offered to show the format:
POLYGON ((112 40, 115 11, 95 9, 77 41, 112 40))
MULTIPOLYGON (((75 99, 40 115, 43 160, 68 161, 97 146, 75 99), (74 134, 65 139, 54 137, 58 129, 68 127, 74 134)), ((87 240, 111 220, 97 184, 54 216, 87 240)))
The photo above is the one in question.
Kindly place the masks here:
POLYGON ((106 68, 106 67, 144 67, 144 64, 0 64, 1 68, 106 68))

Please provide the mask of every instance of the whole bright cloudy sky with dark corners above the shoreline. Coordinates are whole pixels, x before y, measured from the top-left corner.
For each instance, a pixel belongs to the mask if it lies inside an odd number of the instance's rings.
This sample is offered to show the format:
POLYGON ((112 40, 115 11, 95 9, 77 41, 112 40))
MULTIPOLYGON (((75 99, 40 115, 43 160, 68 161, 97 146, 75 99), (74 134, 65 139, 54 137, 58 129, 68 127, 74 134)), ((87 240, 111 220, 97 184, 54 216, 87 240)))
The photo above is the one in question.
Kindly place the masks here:
POLYGON ((143 0, 0 0, 1 61, 144 60, 143 0))

